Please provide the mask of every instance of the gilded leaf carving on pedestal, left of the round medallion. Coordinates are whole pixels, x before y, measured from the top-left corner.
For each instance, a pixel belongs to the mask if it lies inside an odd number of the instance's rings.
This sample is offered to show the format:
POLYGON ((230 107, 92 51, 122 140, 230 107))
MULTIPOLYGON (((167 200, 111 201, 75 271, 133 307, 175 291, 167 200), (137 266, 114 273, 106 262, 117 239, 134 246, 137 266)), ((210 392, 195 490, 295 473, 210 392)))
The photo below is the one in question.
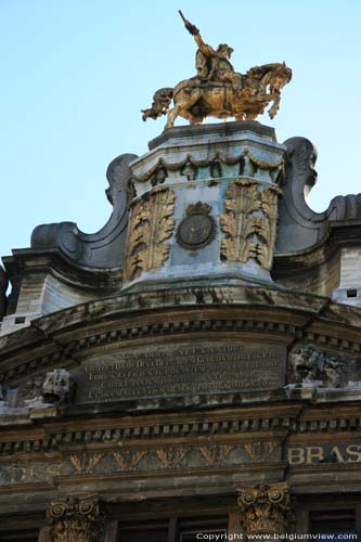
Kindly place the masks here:
POLYGON ((165 241, 173 232, 173 191, 163 186, 133 204, 127 242, 126 280, 159 268, 166 261, 169 244, 165 241))

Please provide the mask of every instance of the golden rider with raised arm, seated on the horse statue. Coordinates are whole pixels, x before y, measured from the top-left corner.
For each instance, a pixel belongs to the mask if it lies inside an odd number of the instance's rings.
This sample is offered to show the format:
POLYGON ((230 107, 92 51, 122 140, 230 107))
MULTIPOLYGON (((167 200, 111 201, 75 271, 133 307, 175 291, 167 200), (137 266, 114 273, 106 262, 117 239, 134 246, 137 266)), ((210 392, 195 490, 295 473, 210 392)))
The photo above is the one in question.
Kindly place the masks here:
POLYGON ((201 79, 215 82, 231 82, 233 90, 238 93, 242 90, 242 75, 234 70, 230 62, 233 49, 227 43, 220 43, 215 50, 203 41, 198 28, 186 18, 184 26, 194 37, 198 50, 195 55, 195 67, 201 79))

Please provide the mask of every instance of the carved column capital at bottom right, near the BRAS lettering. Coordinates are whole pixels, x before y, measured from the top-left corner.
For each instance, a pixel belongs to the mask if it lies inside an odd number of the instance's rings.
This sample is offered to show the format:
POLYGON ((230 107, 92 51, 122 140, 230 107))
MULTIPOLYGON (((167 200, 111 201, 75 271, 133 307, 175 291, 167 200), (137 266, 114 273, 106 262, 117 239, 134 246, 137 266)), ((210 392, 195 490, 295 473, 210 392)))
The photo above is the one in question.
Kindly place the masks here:
POLYGON ((286 482, 259 488, 238 488, 237 504, 243 532, 284 534, 292 527, 294 514, 286 482))

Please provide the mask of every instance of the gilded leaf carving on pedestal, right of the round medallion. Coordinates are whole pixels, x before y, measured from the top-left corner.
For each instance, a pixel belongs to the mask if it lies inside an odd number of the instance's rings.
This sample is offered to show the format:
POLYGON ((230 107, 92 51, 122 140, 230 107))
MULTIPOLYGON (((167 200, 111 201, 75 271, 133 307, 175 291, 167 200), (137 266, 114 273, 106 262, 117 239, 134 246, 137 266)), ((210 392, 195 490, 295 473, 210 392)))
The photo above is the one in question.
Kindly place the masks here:
POLYGON ((249 179, 237 179, 225 193, 225 212, 220 217, 221 258, 246 263, 256 259, 263 269, 272 267, 280 189, 263 191, 249 179))

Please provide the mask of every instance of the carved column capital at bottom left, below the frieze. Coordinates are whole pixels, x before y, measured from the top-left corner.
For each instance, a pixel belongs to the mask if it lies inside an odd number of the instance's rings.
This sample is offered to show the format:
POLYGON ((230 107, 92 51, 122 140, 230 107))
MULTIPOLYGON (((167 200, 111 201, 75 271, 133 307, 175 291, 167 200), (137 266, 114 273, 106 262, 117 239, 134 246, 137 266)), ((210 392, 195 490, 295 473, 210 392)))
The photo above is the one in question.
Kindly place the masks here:
POLYGON ((95 542, 102 532, 95 495, 52 501, 47 512, 52 542, 95 542))

